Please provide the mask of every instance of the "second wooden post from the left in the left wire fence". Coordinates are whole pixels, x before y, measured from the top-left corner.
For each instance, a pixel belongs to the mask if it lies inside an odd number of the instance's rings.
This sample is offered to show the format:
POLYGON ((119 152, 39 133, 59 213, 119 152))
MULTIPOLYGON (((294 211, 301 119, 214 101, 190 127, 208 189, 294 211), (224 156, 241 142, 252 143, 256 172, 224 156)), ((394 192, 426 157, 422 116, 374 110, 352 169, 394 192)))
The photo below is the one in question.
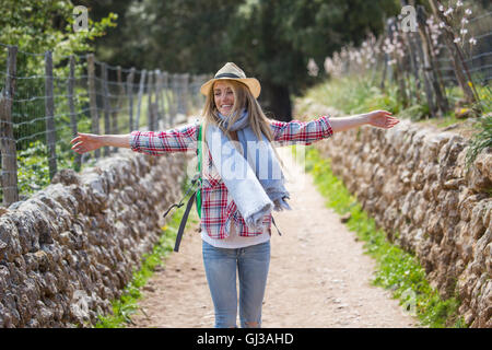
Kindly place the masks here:
POLYGON ((57 173, 57 131, 55 129, 55 102, 52 93, 52 54, 45 54, 45 110, 46 110, 46 141, 48 143, 49 179, 57 173))

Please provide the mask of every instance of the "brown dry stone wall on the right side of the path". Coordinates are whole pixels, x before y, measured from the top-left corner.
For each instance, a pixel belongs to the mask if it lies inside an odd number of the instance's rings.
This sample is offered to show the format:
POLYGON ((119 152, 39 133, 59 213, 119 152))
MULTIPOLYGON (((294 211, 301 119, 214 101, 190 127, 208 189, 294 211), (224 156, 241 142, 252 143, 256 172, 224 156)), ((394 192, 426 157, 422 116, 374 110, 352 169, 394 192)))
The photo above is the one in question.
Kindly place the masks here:
POLYGON ((389 240, 419 258, 442 296, 461 301, 466 323, 492 327, 492 150, 467 171, 466 138, 408 120, 315 144, 389 240))

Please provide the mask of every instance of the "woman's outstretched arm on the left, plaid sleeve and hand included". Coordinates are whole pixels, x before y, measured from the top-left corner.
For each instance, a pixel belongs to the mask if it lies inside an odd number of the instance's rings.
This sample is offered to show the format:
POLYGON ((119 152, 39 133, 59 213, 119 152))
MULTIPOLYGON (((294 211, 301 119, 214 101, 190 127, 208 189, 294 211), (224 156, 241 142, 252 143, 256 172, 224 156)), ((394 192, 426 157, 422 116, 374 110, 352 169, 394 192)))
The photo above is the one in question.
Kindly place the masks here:
POLYGON ((70 142, 77 153, 94 151, 102 147, 121 147, 134 152, 163 155, 167 152, 186 152, 197 149, 197 125, 186 125, 167 131, 132 131, 128 135, 93 135, 79 132, 70 142))

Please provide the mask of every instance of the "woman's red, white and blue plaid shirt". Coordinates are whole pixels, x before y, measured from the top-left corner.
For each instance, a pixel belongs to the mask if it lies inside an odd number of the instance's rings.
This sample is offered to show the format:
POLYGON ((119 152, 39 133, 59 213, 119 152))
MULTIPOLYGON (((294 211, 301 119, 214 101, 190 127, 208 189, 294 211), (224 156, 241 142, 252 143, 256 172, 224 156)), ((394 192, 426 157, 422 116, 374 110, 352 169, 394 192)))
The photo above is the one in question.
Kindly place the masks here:
MULTIPOLYGON (((292 120, 290 122, 271 120, 274 145, 311 144, 325 138, 329 138, 333 130, 328 116, 323 116, 311 121, 292 120)), ((132 131, 130 133, 131 150, 151 155, 163 155, 167 152, 196 151, 198 141, 198 124, 190 124, 167 131, 132 131)), ((203 148, 206 150, 206 148, 203 148)), ((225 224, 234 220, 241 236, 256 236, 262 232, 248 229, 243 217, 231 198, 227 188, 218 176, 212 163, 210 151, 207 152, 203 164, 207 174, 202 178, 201 187, 201 225, 208 235, 215 240, 229 236, 225 224), (213 176, 216 174, 216 176, 213 176)), ((271 214, 265 215, 263 223, 270 232, 271 214)))

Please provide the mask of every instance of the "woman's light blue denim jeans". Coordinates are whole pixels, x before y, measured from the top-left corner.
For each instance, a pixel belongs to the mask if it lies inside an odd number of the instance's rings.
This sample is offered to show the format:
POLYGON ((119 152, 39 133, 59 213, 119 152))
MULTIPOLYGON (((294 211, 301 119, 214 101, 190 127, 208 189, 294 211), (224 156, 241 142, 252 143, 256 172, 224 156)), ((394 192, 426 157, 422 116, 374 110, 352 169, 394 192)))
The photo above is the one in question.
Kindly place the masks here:
POLYGON ((270 265, 270 242, 230 249, 203 242, 203 265, 215 310, 215 328, 236 327, 239 276, 239 319, 243 328, 261 326, 261 305, 270 265))

